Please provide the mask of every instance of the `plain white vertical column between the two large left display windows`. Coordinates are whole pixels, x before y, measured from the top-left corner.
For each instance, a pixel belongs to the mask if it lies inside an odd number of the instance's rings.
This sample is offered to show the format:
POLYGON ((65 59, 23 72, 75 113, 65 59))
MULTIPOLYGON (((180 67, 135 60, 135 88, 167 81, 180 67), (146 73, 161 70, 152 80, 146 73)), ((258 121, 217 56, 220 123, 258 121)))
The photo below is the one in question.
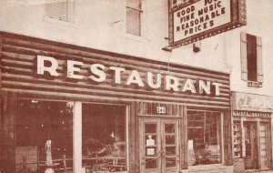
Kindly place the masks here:
POLYGON ((73 109, 73 172, 82 171, 82 103, 76 101, 73 109))

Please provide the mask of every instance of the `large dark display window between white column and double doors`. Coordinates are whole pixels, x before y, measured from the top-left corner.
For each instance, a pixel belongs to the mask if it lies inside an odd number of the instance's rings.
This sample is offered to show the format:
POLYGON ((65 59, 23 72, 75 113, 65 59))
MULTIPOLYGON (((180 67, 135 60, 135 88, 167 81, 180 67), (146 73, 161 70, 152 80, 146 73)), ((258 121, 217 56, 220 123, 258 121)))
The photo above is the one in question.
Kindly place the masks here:
POLYGON ((93 172, 126 170, 126 107, 83 104, 83 160, 93 172))

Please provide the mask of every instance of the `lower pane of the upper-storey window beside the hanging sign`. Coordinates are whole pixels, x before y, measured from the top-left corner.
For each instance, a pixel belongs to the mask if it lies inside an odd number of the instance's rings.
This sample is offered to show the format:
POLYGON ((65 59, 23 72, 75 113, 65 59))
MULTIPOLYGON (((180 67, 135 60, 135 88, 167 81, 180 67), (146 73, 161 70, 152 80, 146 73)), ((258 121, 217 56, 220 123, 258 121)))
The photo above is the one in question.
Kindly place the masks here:
POLYGON ((126 8, 126 33, 141 36, 140 25, 141 12, 127 7, 126 8))

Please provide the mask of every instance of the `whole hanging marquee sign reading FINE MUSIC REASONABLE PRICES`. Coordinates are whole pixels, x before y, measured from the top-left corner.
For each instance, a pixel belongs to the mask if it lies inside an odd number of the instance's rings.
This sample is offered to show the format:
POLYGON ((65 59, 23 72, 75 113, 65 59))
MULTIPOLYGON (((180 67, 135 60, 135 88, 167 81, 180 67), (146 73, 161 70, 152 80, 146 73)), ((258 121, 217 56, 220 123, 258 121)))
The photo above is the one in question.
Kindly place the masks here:
POLYGON ((169 0, 168 5, 169 46, 164 50, 247 25, 246 0, 187 0, 178 5, 169 0))

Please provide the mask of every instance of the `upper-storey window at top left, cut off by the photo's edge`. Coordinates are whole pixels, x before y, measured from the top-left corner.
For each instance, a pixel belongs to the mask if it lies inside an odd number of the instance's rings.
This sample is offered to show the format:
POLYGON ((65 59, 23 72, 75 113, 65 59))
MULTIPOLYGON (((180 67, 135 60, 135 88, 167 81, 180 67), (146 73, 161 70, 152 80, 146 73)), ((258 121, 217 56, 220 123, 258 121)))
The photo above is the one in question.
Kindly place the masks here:
POLYGON ((64 22, 72 22, 72 1, 47 0, 45 16, 64 22))

